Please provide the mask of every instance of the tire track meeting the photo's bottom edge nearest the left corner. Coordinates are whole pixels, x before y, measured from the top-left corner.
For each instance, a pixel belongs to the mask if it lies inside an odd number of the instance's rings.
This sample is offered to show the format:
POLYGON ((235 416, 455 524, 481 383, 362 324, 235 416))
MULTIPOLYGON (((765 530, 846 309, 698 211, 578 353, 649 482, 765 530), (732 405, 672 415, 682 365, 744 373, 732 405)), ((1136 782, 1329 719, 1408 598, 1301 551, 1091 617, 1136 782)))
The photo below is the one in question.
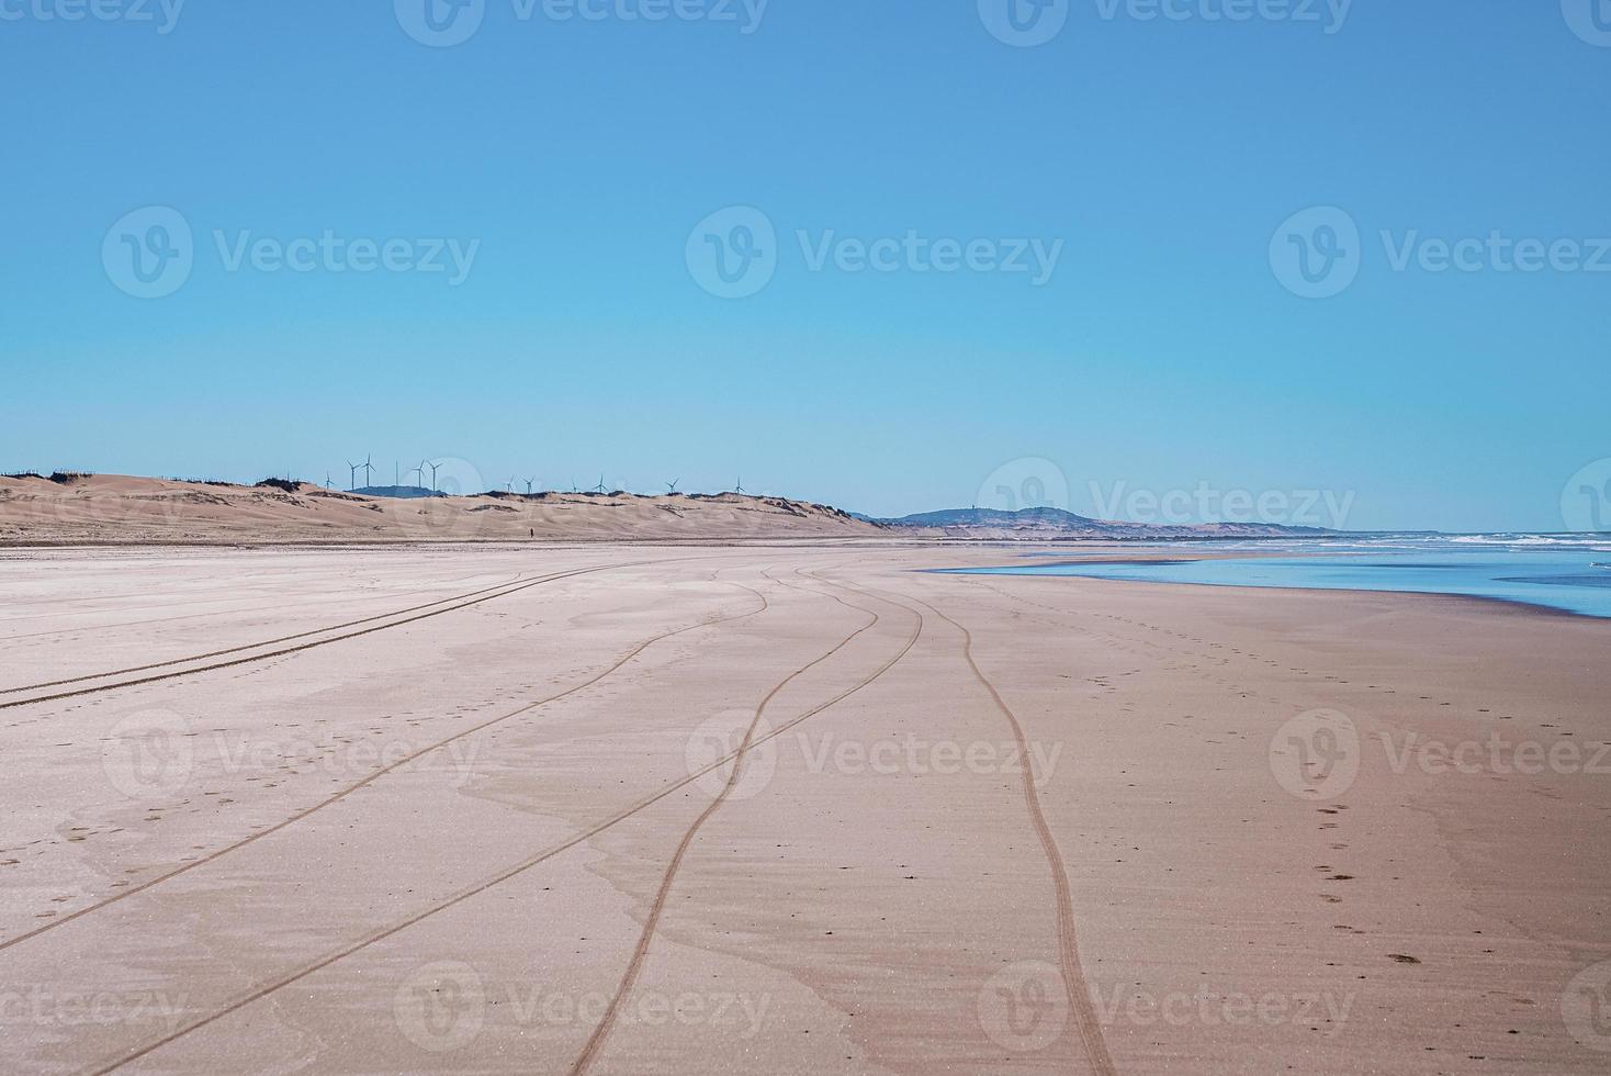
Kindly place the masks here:
MULTIPOLYGON (((831 594, 830 594, 830 598, 831 598, 831 594)), ((841 602, 841 604, 849 604, 849 602, 841 602)), ((870 615, 876 615, 876 614, 872 614, 870 610, 865 610, 865 609, 862 612, 868 612, 870 615)), ((865 631, 870 627, 872 625, 867 625, 867 627, 860 628, 855 635, 860 635, 860 631, 865 631)), ((907 639, 905 646, 902 646, 901 651, 894 657, 891 657, 888 662, 884 662, 883 665, 880 665, 865 680, 859 681, 852 688, 847 688, 846 691, 841 691, 839 694, 836 694, 834 697, 828 699, 826 702, 822 702, 822 704, 818 704, 818 706, 806 710, 804 714, 789 718, 788 722, 785 722, 778 728, 772 730, 770 733, 767 733, 764 736, 759 736, 749 746, 751 747, 757 747, 757 746, 767 743, 768 739, 781 736, 783 733, 786 733, 788 730, 794 728, 801 722, 806 722, 806 720, 815 717, 817 714, 822 714, 828 707, 838 704, 843 699, 847 699, 849 696, 855 694, 857 691, 860 691, 867 685, 873 683, 875 680, 878 680, 880 677, 883 677, 886 672, 889 672, 896 665, 896 662, 899 662, 902 657, 907 656, 907 652, 917 644, 917 639, 918 639, 920 633, 921 633, 921 620, 918 622, 918 628, 912 633, 912 638, 907 639)), ((847 641, 849 639, 846 639, 844 643, 841 643, 839 648, 843 648, 847 641)), ((839 648, 834 648, 834 649, 839 649, 839 648)), ((272 983, 266 983, 266 984, 263 984, 263 986, 259 986, 259 987, 256 987, 256 989, 253 989, 253 991, 250 991, 250 992, 237 997, 235 1000, 229 1002, 222 1008, 219 1008, 219 1010, 216 1010, 216 1012, 213 1012, 213 1013, 200 1018, 200 1020, 193 1020, 188 1024, 185 1024, 185 1026, 182 1026, 182 1028, 179 1028, 179 1029, 176 1029, 176 1031, 172 1031, 172 1033, 169 1033, 169 1034, 166 1034, 166 1036, 163 1036, 159 1039, 155 1039, 155 1041, 151 1041, 151 1042, 148 1042, 148 1044, 145 1044, 145 1045, 142 1045, 142 1047, 139 1047, 135 1050, 130 1050, 130 1052, 127 1052, 127 1053, 124 1053, 124 1055, 121 1055, 121 1057, 118 1057, 118 1058, 114 1058, 111 1062, 106 1062, 106 1063, 103 1063, 103 1065, 90 1070, 90 1073, 92 1073, 92 1076, 105 1076, 106 1073, 111 1073, 111 1071, 114 1071, 118 1068, 122 1068, 124 1065, 127 1065, 130 1062, 137 1062, 139 1058, 142 1058, 142 1057, 145 1057, 145 1055, 148 1055, 148 1053, 151 1053, 155 1050, 159 1050, 161 1047, 164 1047, 164 1045, 168 1045, 171 1042, 176 1042, 176 1041, 185 1037, 187 1034, 200 1031, 201 1028, 205 1028, 205 1026, 208 1026, 208 1024, 211 1024, 211 1023, 214 1023, 217 1020, 222 1020, 224 1016, 229 1016, 230 1013, 235 1013, 235 1012, 245 1008, 246 1005, 251 1005, 256 1000, 269 997, 271 994, 274 994, 274 992, 277 992, 277 991, 280 991, 280 989, 284 989, 287 986, 300 983, 301 979, 308 978, 309 975, 314 975, 316 971, 329 968, 330 965, 337 963, 338 960, 343 960, 343 958, 346 958, 346 957, 350 957, 350 955, 353 955, 356 952, 361 952, 361 950, 374 946, 375 942, 385 941, 387 937, 400 934, 400 933, 406 931, 408 928, 414 926, 416 923, 422 923, 424 920, 437 915, 438 912, 445 912, 445 910, 448 910, 451 907, 464 904, 466 900, 469 900, 469 899, 472 899, 475 896, 480 896, 482 892, 487 892, 488 889, 491 889, 491 888, 495 888, 498 884, 503 884, 504 881, 509 881, 511 878, 524 875, 525 871, 532 870, 533 867, 538 867, 540 863, 545 863, 545 862, 554 859, 556 855, 569 852, 570 849, 577 847, 578 844, 583 844, 583 842, 596 838, 598 834, 601 834, 601 833, 604 833, 604 831, 607 831, 607 830, 620 825, 622 821, 632 818, 633 815, 638 815, 643 810, 652 807, 654 804, 661 802, 662 799, 665 799, 665 797, 669 797, 669 796, 681 791, 683 788, 688 788, 690 784, 693 784, 694 781, 698 781, 699 778, 702 778, 706 773, 712 773, 715 770, 720 770, 728 762, 736 762, 736 760, 738 760, 738 751, 731 751, 727 755, 723 755, 720 759, 715 759, 709 765, 706 765, 706 767, 702 767, 699 770, 694 770, 688 776, 678 778, 675 781, 670 781, 670 783, 664 784, 659 791, 651 793, 649 796, 644 796, 643 799, 636 801, 630 807, 625 807, 625 809, 622 809, 622 810, 609 815, 607 818, 599 820, 593 826, 588 826, 586 830, 583 830, 583 831, 580 831, 580 833, 577 833, 577 834, 574 834, 574 836, 561 841, 559 844, 546 847, 541 852, 535 852, 533 855, 520 860, 519 863, 516 863, 512 867, 507 867, 507 868, 498 871, 496 875, 491 875, 490 878, 485 878, 485 879, 482 879, 482 881, 478 881, 478 883, 475 883, 472 886, 466 886, 466 888, 459 889, 458 892, 454 892, 453 896, 449 896, 449 897, 446 897, 443 900, 438 900, 437 904, 433 904, 433 905, 430 905, 427 908, 422 908, 420 912, 416 912, 412 915, 409 915, 408 918, 398 920, 396 923, 391 923, 390 926, 383 926, 383 928, 374 929, 369 934, 362 936, 361 939, 358 939, 358 941, 354 941, 354 942, 351 942, 348 946, 343 946, 342 949, 338 949, 338 950, 335 950, 332 954, 327 954, 325 957, 321 957, 319 960, 316 960, 313 963, 303 965, 296 971, 284 975, 284 976, 274 979, 272 983)))

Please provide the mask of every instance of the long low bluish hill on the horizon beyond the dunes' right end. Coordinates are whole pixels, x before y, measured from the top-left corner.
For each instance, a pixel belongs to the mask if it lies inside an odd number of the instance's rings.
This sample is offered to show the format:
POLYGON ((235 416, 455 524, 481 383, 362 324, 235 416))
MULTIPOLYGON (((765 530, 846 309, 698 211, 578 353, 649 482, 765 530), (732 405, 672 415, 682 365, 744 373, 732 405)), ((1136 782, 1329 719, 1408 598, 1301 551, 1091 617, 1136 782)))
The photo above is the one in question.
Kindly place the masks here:
POLYGON ((1129 524, 1123 520, 1089 519, 1060 507, 1026 507, 1017 512, 989 507, 952 507, 939 512, 918 512, 915 515, 875 522, 913 535, 939 532, 947 538, 1015 541, 1058 538, 1284 538, 1336 533, 1319 527, 1284 527, 1279 524, 1129 524))

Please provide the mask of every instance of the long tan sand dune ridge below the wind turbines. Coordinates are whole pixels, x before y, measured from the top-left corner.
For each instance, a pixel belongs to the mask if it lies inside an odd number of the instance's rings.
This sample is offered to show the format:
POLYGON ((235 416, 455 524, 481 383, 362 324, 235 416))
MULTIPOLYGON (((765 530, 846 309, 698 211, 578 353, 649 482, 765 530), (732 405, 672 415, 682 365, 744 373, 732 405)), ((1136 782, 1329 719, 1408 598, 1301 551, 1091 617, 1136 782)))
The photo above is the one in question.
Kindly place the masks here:
POLYGON ((876 525, 828 506, 735 493, 396 499, 308 483, 0 478, 0 543, 709 541, 876 533, 876 525))

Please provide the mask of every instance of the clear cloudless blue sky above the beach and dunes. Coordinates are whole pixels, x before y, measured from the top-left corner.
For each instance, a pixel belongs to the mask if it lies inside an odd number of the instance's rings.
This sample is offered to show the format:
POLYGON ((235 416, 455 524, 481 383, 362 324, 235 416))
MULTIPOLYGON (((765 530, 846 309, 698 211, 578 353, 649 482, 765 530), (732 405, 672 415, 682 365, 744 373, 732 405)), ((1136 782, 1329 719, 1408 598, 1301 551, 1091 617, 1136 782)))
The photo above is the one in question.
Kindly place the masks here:
POLYGON ((1611 3, 467 3, 0 0, 0 470, 1600 488, 1611 3))

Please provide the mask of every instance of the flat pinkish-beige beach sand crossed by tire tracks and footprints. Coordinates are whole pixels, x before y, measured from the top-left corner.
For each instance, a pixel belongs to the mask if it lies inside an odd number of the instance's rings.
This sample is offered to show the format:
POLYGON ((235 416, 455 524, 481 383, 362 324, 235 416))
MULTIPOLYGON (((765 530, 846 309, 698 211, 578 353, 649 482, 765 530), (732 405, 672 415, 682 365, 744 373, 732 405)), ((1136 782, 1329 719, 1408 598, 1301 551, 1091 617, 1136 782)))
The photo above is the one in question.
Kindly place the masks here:
POLYGON ((1008 556, 5 554, 0 1070, 1611 1068, 1611 623, 1008 556))

